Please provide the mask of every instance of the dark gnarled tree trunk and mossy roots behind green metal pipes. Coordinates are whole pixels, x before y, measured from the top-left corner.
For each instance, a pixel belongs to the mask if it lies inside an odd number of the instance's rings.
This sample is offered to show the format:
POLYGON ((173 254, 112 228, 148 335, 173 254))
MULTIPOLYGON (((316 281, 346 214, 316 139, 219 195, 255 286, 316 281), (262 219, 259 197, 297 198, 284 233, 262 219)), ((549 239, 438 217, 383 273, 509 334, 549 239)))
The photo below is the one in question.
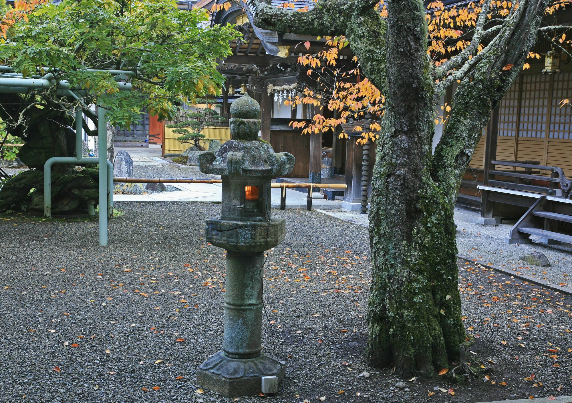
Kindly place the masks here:
MULTIPOLYGON (((0 94, 7 104, 0 117, 7 123, 19 119, 26 105, 17 94, 0 94)), ((22 172, 6 181, 0 189, 0 211, 43 211, 43 167, 51 157, 71 157, 75 153, 76 135, 73 117, 59 105, 26 110, 25 120, 17 127, 8 127, 12 134, 24 139, 19 157, 31 171, 22 172)), ((89 211, 88 204, 97 205, 97 169, 74 172, 73 164, 54 164, 52 175, 51 211, 55 214, 89 211)))

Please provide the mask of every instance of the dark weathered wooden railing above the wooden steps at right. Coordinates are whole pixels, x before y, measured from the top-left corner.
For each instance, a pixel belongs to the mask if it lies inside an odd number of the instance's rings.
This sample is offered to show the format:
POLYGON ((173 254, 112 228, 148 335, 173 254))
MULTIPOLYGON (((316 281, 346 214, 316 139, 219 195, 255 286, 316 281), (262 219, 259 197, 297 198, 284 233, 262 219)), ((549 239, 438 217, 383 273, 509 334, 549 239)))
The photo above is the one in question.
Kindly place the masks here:
POLYGON ((567 179, 562 168, 539 165, 539 161, 491 161, 495 167, 523 168, 522 171, 488 171, 488 185, 512 189, 516 191, 542 193, 550 196, 570 198, 572 193, 572 180, 567 179), (545 175, 539 175, 541 171, 550 171, 545 175), (514 178, 514 181, 503 179, 496 180, 495 176, 514 178), (538 182, 548 183, 543 186, 538 182))

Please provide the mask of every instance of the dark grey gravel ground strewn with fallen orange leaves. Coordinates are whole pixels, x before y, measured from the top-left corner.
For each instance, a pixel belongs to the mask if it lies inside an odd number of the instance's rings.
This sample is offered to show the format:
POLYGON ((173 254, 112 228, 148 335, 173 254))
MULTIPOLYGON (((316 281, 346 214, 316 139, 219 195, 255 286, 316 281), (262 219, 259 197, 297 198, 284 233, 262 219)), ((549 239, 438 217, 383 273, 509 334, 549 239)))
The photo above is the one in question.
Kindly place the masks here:
MULTIPOLYGON (((0 218, 0 401, 232 402, 196 393, 195 379, 197 366, 223 343, 224 252, 203 232, 220 205, 116 207, 124 215, 110 220, 106 248, 97 246, 94 221, 0 218)), ((478 354, 469 359, 474 368, 491 369, 468 386, 446 376, 400 380, 363 357, 367 228, 303 210, 273 215, 287 219, 287 238, 268 256, 264 302, 288 378, 272 401, 572 394, 572 298, 459 262, 464 323, 478 354), (370 376, 359 376, 364 372, 370 376), (396 389, 401 381, 410 390, 396 389)), ((271 334, 263 332, 267 353, 271 334)))

